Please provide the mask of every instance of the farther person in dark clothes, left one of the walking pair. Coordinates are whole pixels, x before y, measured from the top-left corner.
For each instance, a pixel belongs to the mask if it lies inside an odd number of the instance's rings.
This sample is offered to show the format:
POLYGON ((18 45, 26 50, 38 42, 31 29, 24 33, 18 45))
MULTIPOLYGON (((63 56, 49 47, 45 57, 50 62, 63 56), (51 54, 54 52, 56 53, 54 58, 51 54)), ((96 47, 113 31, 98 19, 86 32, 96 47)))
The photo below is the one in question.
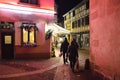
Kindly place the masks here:
POLYGON ((61 44, 61 47, 60 47, 60 52, 63 53, 63 62, 64 62, 64 64, 66 64, 66 62, 68 62, 67 61, 68 46, 69 46, 68 40, 67 40, 67 38, 65 38, 64 41, 61 44))

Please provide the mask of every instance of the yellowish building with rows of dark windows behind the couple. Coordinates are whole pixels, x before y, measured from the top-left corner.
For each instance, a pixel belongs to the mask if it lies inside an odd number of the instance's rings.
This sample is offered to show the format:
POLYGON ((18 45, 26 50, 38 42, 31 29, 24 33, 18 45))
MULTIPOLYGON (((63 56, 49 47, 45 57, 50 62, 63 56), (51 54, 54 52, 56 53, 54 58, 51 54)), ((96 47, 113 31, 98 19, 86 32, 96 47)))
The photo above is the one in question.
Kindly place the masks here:
POLYGON ((76 38, 80 48, 89 48, 89 0, 80 4, 63 15, 64 26, 71 31, 68 39, 76 38))

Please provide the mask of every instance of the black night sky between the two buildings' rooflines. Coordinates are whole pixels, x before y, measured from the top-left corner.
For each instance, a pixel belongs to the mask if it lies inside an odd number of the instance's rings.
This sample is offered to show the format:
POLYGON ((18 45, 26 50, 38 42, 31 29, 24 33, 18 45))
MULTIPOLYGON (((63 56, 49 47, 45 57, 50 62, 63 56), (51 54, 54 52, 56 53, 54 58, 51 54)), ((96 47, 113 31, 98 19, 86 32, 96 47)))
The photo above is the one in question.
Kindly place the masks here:
POLYGON ((62 15, 71 10, 81 1, 82 0, 55 0, 55 3, 57 4, 59 22, 63 20, 62 15))

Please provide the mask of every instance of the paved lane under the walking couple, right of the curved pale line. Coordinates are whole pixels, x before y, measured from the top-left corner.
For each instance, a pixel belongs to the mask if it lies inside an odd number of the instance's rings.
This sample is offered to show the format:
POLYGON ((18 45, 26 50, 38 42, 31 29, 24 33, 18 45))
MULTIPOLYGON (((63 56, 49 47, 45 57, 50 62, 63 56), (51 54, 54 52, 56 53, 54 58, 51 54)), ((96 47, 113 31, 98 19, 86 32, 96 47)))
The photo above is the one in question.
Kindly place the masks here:
MULTIPOLYGON (((89 50, 79 50, 79 71, 72 72, 68 64, 57 68, 54 80, 94 80, 91 72, 85 70, 85 60, 89 58, 89 50)), ((60 64, 63 64, 61 59, 60 64)))

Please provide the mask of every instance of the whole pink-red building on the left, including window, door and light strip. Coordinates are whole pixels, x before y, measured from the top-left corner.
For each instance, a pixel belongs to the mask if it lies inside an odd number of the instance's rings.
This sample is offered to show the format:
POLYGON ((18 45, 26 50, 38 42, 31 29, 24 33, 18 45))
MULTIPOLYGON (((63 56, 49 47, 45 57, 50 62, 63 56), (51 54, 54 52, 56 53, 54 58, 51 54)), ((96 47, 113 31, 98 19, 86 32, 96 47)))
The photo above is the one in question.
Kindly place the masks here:
POLYGON ((0 59, 49 58, 54 0, 0 0, 0 59))

